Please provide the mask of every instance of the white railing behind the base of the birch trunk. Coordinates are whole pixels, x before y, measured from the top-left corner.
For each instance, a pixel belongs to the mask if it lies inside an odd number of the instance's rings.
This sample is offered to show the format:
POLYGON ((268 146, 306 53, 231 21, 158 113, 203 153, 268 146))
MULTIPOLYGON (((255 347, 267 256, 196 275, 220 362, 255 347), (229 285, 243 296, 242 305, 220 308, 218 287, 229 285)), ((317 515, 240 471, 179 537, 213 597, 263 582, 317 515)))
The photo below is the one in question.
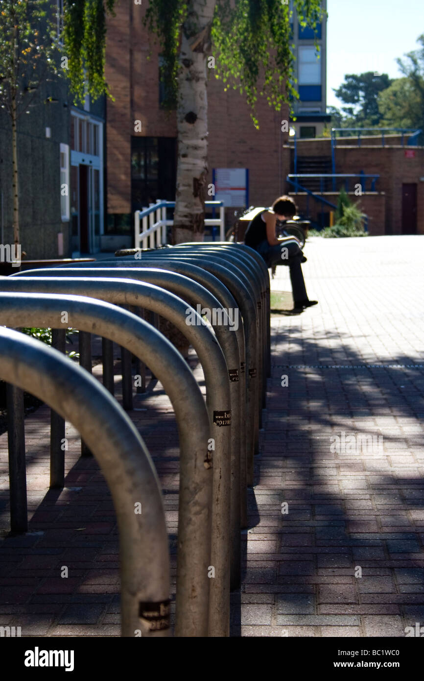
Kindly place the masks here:
MULTIPOLYGON (((225 215, 223 201, 206 201, 205 206, 219 208, 218 218, 206 218, 205 227, 219 227, 219 240, 225 241, 225 215)), ((135 248, 154 249, 167 243, 167 226, 173 220, 166 219, 166 209, 175 208, 174 201, 157 201, 134 215, 135 248), (140 229, 141 227, 141 229, 140 229)))

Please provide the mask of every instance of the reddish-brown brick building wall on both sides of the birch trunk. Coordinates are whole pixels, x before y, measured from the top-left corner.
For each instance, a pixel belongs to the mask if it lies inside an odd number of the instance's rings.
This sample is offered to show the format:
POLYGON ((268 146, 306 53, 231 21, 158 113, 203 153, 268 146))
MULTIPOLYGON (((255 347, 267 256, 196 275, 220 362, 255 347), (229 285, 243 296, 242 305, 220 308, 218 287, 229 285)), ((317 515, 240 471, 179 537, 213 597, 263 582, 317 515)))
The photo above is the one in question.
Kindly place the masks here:
MULTIPOLYGON (((106 124, 109 214, 131 212, 131 136, 177 135, 175 112, 159 106, 160 48, 144 28, 143 16, 142 6, 119 3, 116 17, 108 19, 105 74, 115 98, 108 101, 106 124), (141 132, 134 131, 135 121, 141 122, 141 132)), ((284 191, 289 172, 289 157, 282 153, 287 133, 281 132, 281 121, 289 120, 289 107, 275 112, 266 99, 259 99, 256 113, 259 130, 243 97, 232 89, 225 93, 210 69, 208 183, 212 183, 212 168, 248 168, 249 204, 269 205, 284 191)), ((231 219, 233 210, 227 212, 231 219)))

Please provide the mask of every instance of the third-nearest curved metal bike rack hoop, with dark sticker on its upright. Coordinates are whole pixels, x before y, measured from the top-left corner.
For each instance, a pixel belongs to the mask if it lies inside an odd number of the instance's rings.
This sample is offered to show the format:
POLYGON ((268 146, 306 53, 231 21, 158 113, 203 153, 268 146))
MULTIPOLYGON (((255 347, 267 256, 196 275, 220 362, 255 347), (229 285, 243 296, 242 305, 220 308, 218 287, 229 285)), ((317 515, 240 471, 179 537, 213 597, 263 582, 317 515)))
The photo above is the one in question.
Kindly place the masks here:
MULTIPOLYGON (((40 270, 42 273, 44 270, 40 270)), ((78 270, 84 274, 83 270, 78 270)), ((13 281, 8 278, 8 281, 13 281)), ((43 288, 44 279, 19 277, 14 279, 15 283, 25 283, 27 288, 31 290, 43 288)), ((3 283, 3 282, 2 282, 3 283)), ((66 279, 53 279, 48 281, 51 288, 54 290, 69 289, 69 283, 66 279), (67 286, 68 284, 68 286, 67 286)), ((120 304, 142 304, 146 308, 156 310, 157 313, 172 321, 177 328, 180 329, 190 340, 197 351, 197 355, 203 366, 203 372, 206 378, 207 385, 207 402, 210 411, 211 435, 214 440, 213 449, 208 449, 208 452, 214 451, 214 503, 212 505, 212 526, 214 533, 212 535, 212 565, 215 569, 214 581, 211 582, 211 618, 210 631, 211 635, 227 636, 229 635, 229 587, 230 587, 230 486, 231 486, 231 433, 237 433, 234 426, 231 428, 231 397, 230 397, 230 383, 229 372, 225 358, 218 345, 215 336, 210 332, 207 326, 201 322, 201 317, 189 308, 187 304, 170 294, 168 291, 163 291, 159 287, 147 285, 143 283, 135 283, 131 281, 121 281, 118 279, 101 280, 94 279, 93 281, 86 281, 85 279, 76 279, 70 282, 74 291, 87 293, 97 298, 114 298, 114 302, 120 304), (109 288, 108 288, 109 287, 109 288), (132 294, 132 295, 131 295, 132 294), (187 314, 190 311, 193 326, 186 323, 187 314), (194 317, 194 319, 193 319, 194 317), (224 415, 226 415, 224 417, 224 415), (226 427, 227 426, 228 429, 226 427)), ((14 285, 8 285, 10 290, 14 285)), ((48 287, 47 287, 48 288, 48 287)), ((206 291, 207 294, 207 291, 206 291)), ((39 298, 43 296, 37 294, 39 298)), ((48 297, 48 296, 47 296, 48 297)), ((62 297, 63 298, 63 297, 62 297)), ((210 296, 212 301, 218 305, 218 301, 210 296)), ((1 300, 1 296, 0 296, 1 300)), ((62 303, 64 304, 64 303, 62 303)), ((132 315, 131 315, 132 316, 132 315)), ((0 313, 1 319, 1 313, 0 313)), ((41 323, 41 322, 39 322, 41 323)), ((74 326, 77 326, 77 321, 74 321, 74 326)), ((78 320, 78 324, 81 322, 78 320)), ((100 330, 97 331, 100 333, 100 330)), ((131 356, 131 355, 130 355, 131 356)), ((183 361, 183 360, 182 360, 183 361)), ((154 366, 154 365, 149 365, 154 366)), ((163 382, 163 381, 162 381, 163 382)), ((238 415, 238 403, 233 405, 235 414, 238 415)), ((238 420, 240 416, 238 416, 238 420)), ((192 424, 190 424, 192 427, 192 424)), ((240 441, 235 440, 238 449, 233 456, 240 460, 240 441)), ((210 444, 209 439, 206 445, 210 444)), ((236 556, 233 560, 233 565, 238 565, 238 572, 233 576, 234 580, 240 581, 240 480, 237 479, 238 492, 237 498, 233 502, 235 508, 239 509, 237 516, 237 533, 238 544, 233 546, 236 556)), ((180 522, 183 522, 180 520, 180 522)))

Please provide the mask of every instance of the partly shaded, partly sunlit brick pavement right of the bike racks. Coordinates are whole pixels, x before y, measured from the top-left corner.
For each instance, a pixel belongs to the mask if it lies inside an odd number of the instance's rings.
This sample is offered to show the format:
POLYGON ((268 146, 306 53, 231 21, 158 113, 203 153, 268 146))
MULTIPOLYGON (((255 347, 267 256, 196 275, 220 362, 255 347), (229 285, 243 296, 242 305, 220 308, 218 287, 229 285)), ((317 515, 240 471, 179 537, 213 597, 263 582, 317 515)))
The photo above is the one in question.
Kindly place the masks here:
POLYGON ((424 237, 305 254, 319 305, 272 317, 233 635, 404 636, 424 624, 424 237))

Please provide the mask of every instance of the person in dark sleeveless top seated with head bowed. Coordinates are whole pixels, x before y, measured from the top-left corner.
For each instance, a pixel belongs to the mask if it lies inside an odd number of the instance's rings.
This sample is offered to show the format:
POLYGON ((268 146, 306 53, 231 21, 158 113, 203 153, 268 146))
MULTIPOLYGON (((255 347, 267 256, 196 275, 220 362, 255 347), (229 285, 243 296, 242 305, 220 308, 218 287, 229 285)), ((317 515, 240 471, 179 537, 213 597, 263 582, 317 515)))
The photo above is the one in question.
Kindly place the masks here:
POLYGON ((294 236, 276 238, 277 220, 289 220, 296 212, 293 199, 289 196, 280 196, 274 201, 272 208, 265 208, 250 221, 244 243, 263 257, 267 267, 289 266, 294 300, 293 312, 301 312, 318 302, 309 300, 306 293, 304 275, 301 271, 301 263, 306 262, 306 257, 294 236))

